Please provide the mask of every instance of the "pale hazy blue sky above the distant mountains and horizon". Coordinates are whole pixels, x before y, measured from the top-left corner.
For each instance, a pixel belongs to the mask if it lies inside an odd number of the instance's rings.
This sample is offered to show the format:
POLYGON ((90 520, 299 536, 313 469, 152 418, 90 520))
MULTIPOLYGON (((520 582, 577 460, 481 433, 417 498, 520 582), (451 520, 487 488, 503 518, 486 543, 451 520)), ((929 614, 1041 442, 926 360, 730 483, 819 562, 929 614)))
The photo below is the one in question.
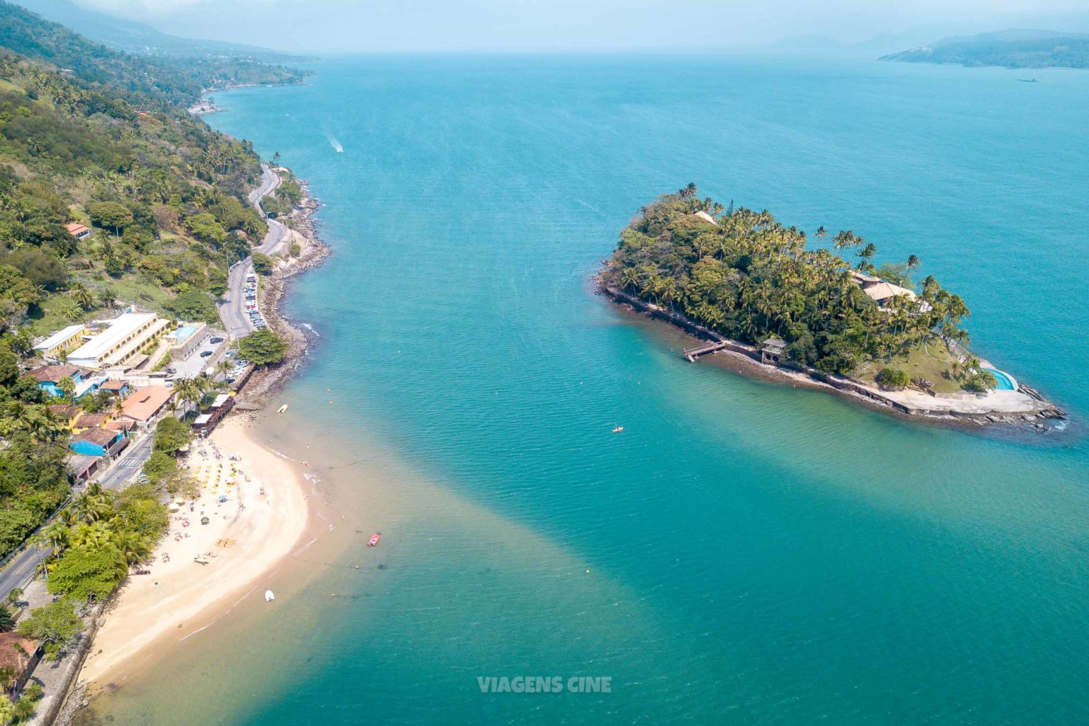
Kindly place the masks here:
POLYGON ((76 0, 182 36, 315 51, 712 49, 1089 30, 1089 0, 76 0), (923 26, 920 28, 919 26, 923 26))

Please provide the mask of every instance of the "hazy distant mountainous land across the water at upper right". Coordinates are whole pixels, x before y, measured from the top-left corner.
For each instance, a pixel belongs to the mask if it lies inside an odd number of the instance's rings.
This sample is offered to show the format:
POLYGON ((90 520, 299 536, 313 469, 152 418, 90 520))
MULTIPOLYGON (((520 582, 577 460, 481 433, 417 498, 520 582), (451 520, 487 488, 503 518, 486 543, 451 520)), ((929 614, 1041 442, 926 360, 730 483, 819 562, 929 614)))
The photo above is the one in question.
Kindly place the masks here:
POLYGON ((1053 30, 1002 30, 945 38, 882 56, 882 61, 1000 65, 1011 69, 1089 69, 1089 35, 1053 30))

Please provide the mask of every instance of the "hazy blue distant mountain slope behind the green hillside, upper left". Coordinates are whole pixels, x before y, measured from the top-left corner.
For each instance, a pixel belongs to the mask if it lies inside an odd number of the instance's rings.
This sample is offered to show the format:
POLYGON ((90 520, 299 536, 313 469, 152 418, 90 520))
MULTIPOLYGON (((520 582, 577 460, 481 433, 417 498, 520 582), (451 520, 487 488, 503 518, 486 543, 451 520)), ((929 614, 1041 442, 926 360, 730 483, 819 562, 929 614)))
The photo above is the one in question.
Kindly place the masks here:
POLYGON ((264 63, 298 61, 301 57, 269 48, 222 40, 194 40, 162 33, 149 25, 87 10, 70 0, 12 0, 46 20, 61 23, 114 50, 169 58, 248 58, 264 63))

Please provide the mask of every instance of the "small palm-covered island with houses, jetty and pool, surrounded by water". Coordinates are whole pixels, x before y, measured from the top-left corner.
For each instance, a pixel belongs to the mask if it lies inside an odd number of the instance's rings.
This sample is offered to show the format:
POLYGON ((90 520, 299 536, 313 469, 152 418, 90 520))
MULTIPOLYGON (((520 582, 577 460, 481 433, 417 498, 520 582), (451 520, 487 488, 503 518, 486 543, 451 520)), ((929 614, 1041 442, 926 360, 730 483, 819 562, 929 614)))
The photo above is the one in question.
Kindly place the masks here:
POLYGON ((695 184, 644 207, 621 232, 600 290, 726 353, 901 414, 1047 430, 1065 414, 967 349, 968 307, 915 255, 877 267, 851 231, 805 232, 768 211, 723 208, 695 184), (844 255, 855 258, 848 262, 844 255))

